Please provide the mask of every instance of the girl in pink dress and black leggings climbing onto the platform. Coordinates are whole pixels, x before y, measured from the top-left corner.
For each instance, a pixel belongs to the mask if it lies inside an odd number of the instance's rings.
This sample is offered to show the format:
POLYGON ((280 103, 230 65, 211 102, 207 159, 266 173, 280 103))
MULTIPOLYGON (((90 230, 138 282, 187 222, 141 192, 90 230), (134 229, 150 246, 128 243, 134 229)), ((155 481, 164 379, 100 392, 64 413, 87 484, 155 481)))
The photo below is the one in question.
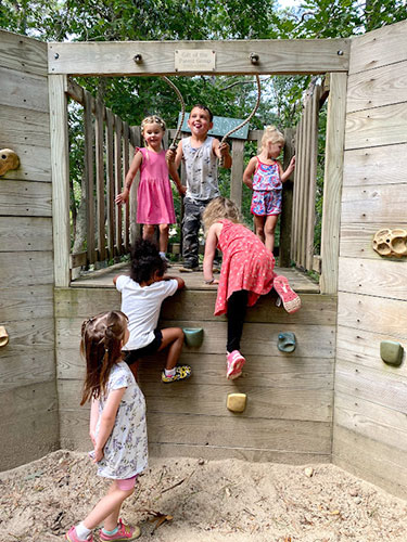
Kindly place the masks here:
POLYGON ((228 317, 227 378, 233 379, 242 374, 245 362, 240 353, 240 339, 246 308, 272 287, 288 312, 297 311, 301 300, 285 276, 275 274, 275 257, 249 228, 240 223, 240 212, 233 202, 226 197, 213 199, 203 214, 203 221, 206 231, 204 280, 206 284, 219 284, 215 315, 226 313, 228 317), (219 281, 213 275, 216 248, 222 253, 219 281))

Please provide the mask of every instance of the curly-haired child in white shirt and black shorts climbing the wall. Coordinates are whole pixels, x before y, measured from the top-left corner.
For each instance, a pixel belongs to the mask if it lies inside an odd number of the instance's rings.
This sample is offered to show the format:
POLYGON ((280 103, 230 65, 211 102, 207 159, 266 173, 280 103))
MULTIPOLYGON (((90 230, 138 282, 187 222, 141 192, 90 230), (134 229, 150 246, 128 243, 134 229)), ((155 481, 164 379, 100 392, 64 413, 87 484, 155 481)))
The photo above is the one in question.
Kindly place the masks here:
POLYGON ((182 279, 165 276, 165 271, 166 262, 156 246, 148 240, 138 240, 131 250, 130 276, 118 275, 113 282, 122 293, 122 310, 129 319, 130 338, 123 349, 126 363, 135 374, 135 363, 140 358, 168 348, 162 380, 170 383, 188 378, 191 367, 177 365, 183 344, 182 330, 157 328, 162 302, 185 286, 182 279))

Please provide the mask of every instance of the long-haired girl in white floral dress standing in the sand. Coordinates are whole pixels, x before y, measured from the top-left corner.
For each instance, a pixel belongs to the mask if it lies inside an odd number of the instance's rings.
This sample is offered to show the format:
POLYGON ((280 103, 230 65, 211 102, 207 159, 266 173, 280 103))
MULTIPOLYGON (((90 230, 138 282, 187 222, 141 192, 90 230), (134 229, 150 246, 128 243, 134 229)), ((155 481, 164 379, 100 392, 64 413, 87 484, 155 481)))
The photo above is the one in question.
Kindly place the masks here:
POLYGON ((145 401, 131 371, 122 361, 129 337, 127 317, 120 311, 99 314, 82 323, 80 351, 86 378, 80 404, 91 401, 90 455, 98 475, 112 480, 109 492, 92 512, 65 534, 69 542, 93 542, 93 529, 103 521, 101 541, 135 540, 139 527, 118 518, 125 499, 135 491, 137 476, 148 466, 145 401))

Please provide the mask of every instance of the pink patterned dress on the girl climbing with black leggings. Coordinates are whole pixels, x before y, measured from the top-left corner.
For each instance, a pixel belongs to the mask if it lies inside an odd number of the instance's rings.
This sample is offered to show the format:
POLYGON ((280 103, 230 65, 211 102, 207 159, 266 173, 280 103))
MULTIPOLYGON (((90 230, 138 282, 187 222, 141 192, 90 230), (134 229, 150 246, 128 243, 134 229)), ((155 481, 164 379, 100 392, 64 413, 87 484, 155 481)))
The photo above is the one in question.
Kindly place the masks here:
POLYGON ((219 220, 221 229, 218 248, 222 253, 222 263, 215 315, 225 314, 228 299, 233 292, 249 291, 247 307, 252 307, 259 296, 272 288, 275 257, 262 241, 245 225, 230 220, 219 220))

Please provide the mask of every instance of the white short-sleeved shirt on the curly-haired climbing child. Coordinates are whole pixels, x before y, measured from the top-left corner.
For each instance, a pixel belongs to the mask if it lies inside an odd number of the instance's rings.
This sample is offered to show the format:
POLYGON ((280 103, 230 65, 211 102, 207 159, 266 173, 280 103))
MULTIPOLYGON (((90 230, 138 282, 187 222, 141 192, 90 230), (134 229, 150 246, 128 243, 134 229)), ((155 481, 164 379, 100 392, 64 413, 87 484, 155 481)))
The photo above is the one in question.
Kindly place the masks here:
POLYGON ((122 311, 129 320, 130 337, 123 350, 138 350, 150 345, 154 340, 162 302, 177 292, 178 282, 171 279, 140 286, 122 274, 117 278, 116 288, 122 293, 122 311))

